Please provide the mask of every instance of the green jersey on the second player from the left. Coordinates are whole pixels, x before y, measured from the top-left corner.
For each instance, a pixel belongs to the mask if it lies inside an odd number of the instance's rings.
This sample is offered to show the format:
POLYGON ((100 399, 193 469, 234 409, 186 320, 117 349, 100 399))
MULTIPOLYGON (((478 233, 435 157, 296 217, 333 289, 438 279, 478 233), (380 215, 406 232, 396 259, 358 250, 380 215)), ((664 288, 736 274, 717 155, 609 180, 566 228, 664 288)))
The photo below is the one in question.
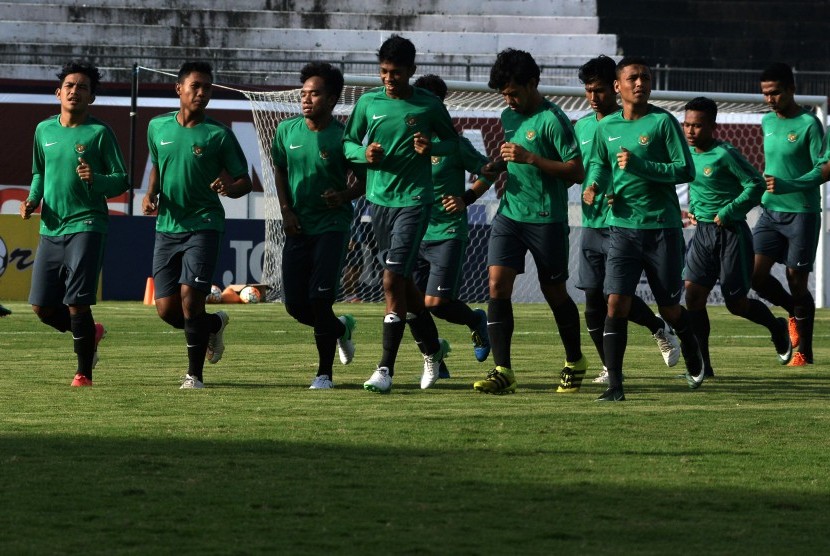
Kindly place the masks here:
POLYGON ((225 231, 225 209, 210 184, 225 170, 233 178, 248 174, 248 162, 236 136, 212 118, 193 127, 168 112, 150 120, 147 144, 159 171, 156 231, 225 231))

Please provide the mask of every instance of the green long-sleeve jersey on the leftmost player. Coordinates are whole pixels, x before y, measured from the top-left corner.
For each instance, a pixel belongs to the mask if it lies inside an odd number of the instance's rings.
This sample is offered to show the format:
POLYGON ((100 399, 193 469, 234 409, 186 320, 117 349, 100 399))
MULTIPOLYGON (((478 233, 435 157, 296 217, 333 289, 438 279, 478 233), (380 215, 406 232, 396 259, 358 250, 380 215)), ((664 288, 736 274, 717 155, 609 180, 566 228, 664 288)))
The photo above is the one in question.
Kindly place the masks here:
POLYGON ((51 116, 38 124, 28 200, 43 201, 42 235, 106 233, 107 198, 128 188, 124 158, 107 124, 92 116, 75 127, 62 126, 60 116, 51 116), (79 158, 92 168, 92 185, 78 177, 79 158))

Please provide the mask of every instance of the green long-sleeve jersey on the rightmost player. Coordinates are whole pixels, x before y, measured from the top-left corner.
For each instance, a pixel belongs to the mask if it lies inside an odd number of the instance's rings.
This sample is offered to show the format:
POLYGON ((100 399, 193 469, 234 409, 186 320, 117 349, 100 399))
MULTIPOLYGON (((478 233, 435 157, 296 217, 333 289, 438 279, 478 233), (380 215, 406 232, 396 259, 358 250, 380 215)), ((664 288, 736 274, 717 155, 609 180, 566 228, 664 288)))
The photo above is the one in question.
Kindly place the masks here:
MULTIPOLYGON (((761 129, 766 159, 764 174, 775 176, 776 181, 778 178, 782 182, 797 180, 821 160, 824 130, 818 118, 807 110, 792 118, 779 118, 774 112, 765 114, 761 129)), ((821 212, 818 184, 783 191, 787 190, 764 193, 761 204, 779 212, 821 212)))

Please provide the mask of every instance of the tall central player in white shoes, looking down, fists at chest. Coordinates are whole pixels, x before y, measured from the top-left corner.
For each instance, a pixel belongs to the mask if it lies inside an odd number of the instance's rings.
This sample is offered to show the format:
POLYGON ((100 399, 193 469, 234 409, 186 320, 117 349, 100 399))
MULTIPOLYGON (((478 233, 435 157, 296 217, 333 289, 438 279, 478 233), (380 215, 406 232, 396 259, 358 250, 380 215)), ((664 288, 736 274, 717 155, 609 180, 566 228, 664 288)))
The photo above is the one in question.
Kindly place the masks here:
POLYGON ((363 386, 388 393, 407 323, 424 355, 421 388, 438 380, 445 355, 412 269, 434 202, 432 137, 457 143, 458 136, 441 100, 409 83, 415 73, 411 41, 392 35, 378 50, 378 61, 383 87, 358 99, 346 122, 343 148, 350 162, 366 165, 366 198, 373 205, 372 229, 384 269, 383 353, 363 386))

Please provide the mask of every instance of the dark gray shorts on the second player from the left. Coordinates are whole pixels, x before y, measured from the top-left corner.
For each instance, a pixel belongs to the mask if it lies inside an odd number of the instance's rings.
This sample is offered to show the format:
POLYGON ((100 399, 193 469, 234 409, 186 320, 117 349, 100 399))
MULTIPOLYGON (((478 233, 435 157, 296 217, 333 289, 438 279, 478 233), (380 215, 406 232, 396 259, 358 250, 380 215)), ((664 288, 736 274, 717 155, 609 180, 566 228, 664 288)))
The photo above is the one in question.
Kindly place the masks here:
POLYGON ((156 232, 153 281, 156 299, 180 292, 181 285, 210 293, 222 234, 214 230, 167 234, 156 232))

